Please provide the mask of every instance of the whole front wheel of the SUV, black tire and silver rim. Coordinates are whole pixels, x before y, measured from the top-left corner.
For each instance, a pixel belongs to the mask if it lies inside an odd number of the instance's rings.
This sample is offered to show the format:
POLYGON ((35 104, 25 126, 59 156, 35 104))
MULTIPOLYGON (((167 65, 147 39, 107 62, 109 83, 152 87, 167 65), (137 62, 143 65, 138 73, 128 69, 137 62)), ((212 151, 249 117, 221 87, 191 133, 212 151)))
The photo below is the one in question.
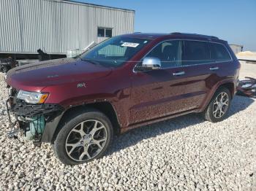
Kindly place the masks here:
POLYGON ((95 109, 88 109, 73 113, 64 122, 53 149, 62 163, 78 165, 102 157, 112 139, 113 127, 108 117, 95 109))

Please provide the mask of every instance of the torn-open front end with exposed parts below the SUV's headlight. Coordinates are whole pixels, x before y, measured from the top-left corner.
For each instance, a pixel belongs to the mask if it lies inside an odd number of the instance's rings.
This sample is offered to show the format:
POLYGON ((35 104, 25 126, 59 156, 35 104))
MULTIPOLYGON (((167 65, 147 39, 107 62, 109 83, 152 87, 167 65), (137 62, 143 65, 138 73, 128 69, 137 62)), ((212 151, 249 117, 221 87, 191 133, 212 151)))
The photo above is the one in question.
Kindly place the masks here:
POLYGON ((59 120, 64 113, 64 108, 59 104, 28 104, 16 98, 17 93, 11 90, 7 99, 7 115, 12 128, 7 133, 9 138, 17 138, 18 133, 23 133, 24 139, 33 140, 34 144, 50 142, 59 120), (12 120, 11 114, 15 115, 12 120))

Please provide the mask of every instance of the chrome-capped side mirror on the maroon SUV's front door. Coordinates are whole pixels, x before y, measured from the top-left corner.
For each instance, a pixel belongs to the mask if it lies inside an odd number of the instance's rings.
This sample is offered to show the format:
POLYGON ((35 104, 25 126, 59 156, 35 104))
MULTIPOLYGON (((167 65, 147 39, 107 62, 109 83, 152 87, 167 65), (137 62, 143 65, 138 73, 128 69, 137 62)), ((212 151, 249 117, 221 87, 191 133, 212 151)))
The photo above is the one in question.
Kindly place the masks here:
POLYGON ((149 71, 161 69, 161 61, 157 57, 145 57, 141 66, 137 66, 137 71, 149 71))

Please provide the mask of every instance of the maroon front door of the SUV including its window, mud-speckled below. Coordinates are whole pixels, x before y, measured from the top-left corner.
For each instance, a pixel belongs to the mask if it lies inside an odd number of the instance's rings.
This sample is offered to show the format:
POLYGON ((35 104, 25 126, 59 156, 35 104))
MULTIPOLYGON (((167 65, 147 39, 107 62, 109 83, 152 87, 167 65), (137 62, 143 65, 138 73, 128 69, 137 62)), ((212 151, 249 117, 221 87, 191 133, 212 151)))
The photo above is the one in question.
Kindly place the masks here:
POLYGON ((162 69, 135 72, 132 77, 130 122, 157 119, 182 111, 186 74, 181 66, 181 41, 165 41, 146 57, 159 58, 162 69))

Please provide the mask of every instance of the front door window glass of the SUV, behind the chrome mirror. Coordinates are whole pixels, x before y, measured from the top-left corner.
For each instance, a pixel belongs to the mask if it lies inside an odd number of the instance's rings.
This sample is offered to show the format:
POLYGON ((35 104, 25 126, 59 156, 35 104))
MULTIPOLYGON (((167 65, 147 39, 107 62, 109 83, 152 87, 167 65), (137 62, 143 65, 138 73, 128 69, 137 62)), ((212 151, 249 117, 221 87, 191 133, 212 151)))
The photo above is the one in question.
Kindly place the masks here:
POLYGON ((181 66, 181 41, 165 41, 154 47, 146 57, 156 57, 161 61, 163 69, 181 66))

